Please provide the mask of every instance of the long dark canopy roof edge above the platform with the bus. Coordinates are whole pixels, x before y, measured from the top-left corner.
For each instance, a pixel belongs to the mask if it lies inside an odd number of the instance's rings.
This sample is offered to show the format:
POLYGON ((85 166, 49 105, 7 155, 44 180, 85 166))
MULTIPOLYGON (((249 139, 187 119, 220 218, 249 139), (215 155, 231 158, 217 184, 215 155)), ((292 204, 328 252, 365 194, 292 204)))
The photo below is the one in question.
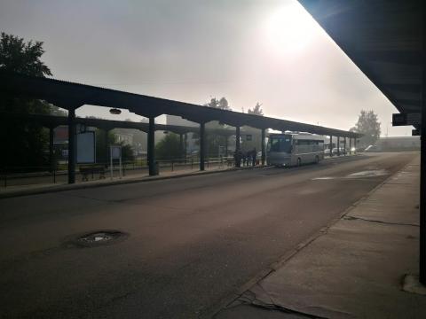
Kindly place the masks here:
POLYGON ((253 128, 304 131, 319 135, 358 138, 358 133, 335 128, 324 128, 312 124, 286 121, 266 116, 225 111, 211 107, 193 105, 159 97, 104 89, 80 83, 64 82, 49 78, 36 78, 20 74, 0 72, 0 92, 12 96, 43 99, 67 110, 82 105, 99 105, 127 109, 145 117, 162 114, 177 115, 198 123, 219 121, 233 127, 247 125, 253 128))

